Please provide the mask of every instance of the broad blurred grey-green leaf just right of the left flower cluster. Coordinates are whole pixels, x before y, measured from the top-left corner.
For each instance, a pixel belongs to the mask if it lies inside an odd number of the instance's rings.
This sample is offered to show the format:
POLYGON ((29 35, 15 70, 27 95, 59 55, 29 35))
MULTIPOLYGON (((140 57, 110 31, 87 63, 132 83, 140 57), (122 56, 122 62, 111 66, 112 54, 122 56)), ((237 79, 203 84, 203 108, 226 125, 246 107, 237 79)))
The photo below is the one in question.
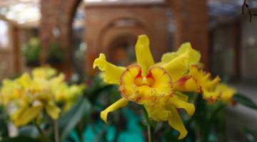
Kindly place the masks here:
POLYGON ((61 141, 69 135, 70 131, 74 129, 76 124, 86 115, 91 109, 91 104, 86 98, 79 99, 74 107, 72 107, 66 114, 61 116, 58 121, 61 141))

